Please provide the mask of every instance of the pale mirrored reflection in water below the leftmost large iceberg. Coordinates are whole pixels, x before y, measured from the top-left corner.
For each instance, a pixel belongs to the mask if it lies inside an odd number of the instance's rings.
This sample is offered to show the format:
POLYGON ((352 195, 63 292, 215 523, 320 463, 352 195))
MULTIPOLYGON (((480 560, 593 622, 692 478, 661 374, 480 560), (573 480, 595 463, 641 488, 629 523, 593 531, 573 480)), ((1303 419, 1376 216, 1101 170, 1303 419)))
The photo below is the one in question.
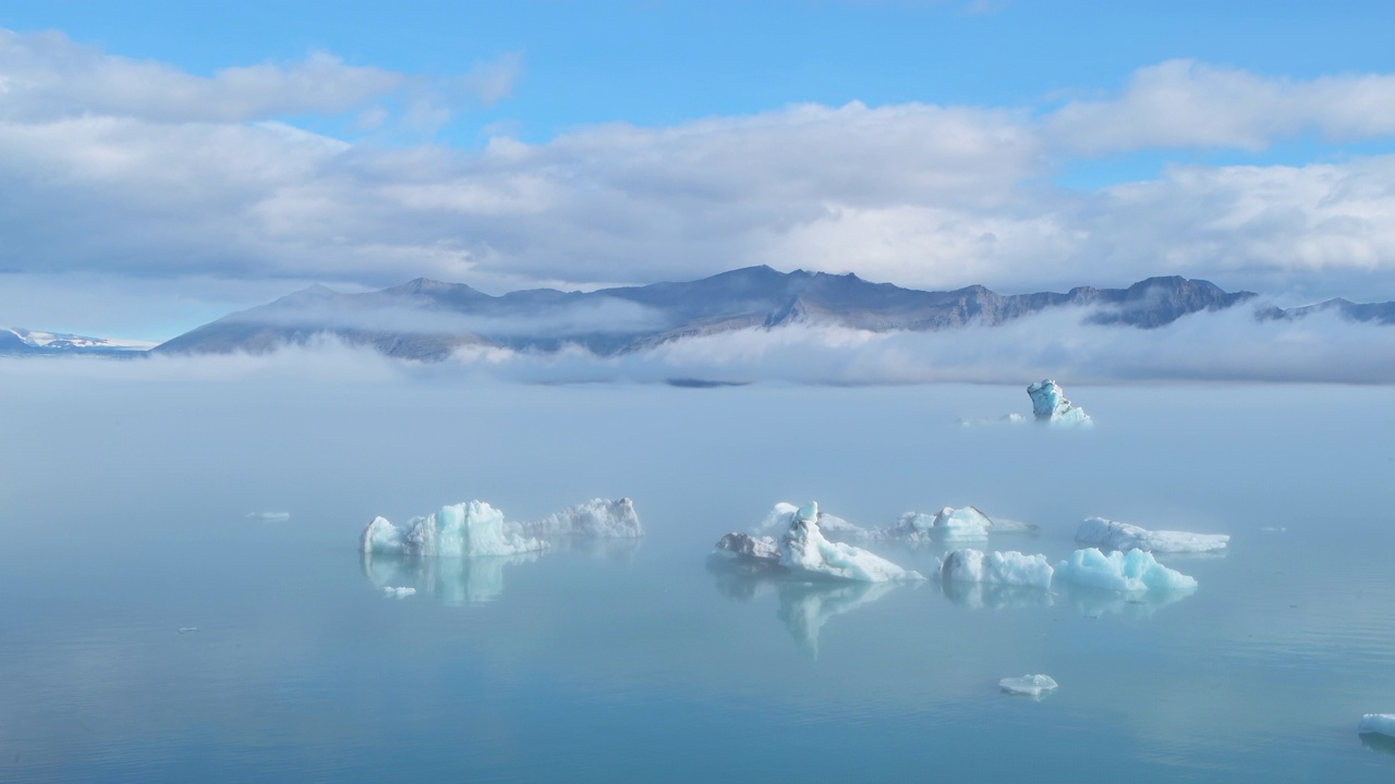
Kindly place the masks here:
POLYGON ((363 573, 374 587, 410 585, 442 604, 459 607, 504 594, 504 566, 537 561, 537 552, 478 558, 413 558, 364 554, 363 573))

